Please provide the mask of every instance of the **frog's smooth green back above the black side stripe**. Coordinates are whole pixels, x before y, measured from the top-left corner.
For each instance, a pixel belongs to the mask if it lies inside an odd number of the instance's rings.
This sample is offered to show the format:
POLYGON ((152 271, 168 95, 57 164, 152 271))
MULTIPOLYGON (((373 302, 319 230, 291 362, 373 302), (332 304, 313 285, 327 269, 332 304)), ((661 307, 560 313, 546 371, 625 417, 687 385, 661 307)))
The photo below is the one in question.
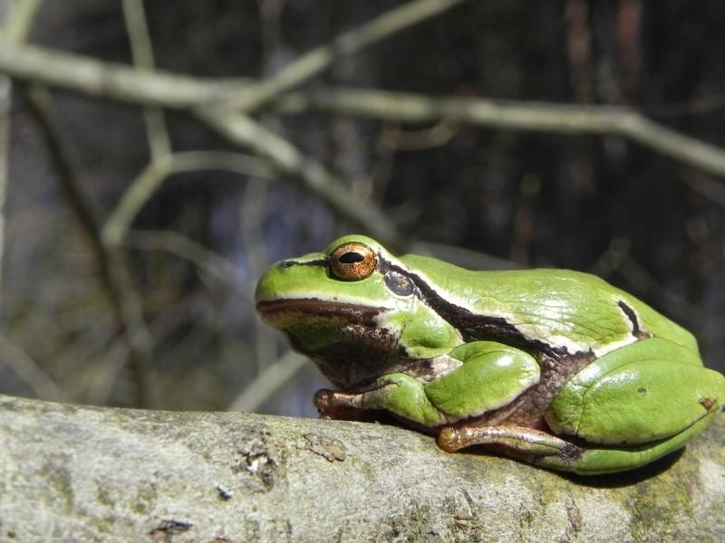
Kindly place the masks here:
POLYGON ((663 338, 697 352, 695 338, 643 301, 581 271, 470 271, 421 256, 403 262, 466 310, 505 319, 527 338, 598 355, 639 338, 663 338))

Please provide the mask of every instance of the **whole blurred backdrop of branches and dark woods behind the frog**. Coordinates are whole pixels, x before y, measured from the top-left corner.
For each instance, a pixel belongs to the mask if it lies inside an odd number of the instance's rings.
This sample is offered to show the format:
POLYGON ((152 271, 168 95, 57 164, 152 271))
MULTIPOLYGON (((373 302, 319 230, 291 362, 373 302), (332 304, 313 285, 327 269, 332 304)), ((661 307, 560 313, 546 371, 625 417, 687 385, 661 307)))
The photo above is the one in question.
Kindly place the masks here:
POLYGON ((271 262, 599 274, 725 369, 716 0, 0 0, 0 393, 314 415, 271 262))

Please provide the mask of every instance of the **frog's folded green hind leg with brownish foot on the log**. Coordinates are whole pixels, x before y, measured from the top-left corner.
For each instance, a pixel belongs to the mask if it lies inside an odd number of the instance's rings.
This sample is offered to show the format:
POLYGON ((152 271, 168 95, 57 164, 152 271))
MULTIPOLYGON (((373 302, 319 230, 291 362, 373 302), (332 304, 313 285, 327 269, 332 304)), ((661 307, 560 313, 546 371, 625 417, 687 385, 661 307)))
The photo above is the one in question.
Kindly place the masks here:
POLYGON ((650 338, 619 348, 566 383, 546 410, 551 432, 473 420, 444 428, 447 451, 497 445, 510 456, 577 473, 622 472, 676 451, 712 422, 725 381, 691 350, 650 338))

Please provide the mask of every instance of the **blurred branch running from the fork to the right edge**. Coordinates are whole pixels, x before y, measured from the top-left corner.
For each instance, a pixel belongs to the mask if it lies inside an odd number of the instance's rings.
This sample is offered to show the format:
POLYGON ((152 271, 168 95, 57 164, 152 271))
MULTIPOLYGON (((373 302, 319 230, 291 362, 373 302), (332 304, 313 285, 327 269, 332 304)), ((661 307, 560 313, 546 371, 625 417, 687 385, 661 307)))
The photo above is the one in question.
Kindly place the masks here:
POLYGON ((725 150, 645 119, 634 110, 475 98, 430 98, 382 90, 320 90, 295 93, 275 107, 286 113, 308 110, 400 122, 459 120, 496 129, 567 135, 614 135, 710 174, 725 176, 725 150))

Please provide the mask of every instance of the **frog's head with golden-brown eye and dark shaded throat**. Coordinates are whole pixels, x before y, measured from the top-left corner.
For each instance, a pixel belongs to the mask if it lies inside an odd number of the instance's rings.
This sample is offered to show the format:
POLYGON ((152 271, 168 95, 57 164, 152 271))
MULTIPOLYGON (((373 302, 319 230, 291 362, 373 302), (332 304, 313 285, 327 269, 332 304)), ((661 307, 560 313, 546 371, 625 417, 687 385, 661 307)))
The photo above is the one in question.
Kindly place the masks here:
POLYGON ((271 266, 257 284, 256 309, 334 386, 360 386, 391 371, 415 374, 417 361, 461 343, 413 276, 380 243, 348 235, 271 266))

